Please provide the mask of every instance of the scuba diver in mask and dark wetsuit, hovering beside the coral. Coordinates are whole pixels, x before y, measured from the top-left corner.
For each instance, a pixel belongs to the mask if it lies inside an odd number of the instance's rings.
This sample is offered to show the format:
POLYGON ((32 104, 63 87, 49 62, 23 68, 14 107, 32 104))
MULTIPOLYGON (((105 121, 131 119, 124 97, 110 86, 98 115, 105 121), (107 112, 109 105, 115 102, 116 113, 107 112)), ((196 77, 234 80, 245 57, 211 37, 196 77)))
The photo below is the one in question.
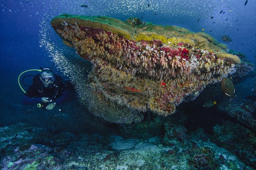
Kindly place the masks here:
POLYGON ((41 72, 33 77, 33 83, 26 91, 22 103, 37 104, 51 110, 56 105, 63 104, 69 97, 69 92, 62 82, 61 76, 56 75, 50 68, 40 68, 41 72))

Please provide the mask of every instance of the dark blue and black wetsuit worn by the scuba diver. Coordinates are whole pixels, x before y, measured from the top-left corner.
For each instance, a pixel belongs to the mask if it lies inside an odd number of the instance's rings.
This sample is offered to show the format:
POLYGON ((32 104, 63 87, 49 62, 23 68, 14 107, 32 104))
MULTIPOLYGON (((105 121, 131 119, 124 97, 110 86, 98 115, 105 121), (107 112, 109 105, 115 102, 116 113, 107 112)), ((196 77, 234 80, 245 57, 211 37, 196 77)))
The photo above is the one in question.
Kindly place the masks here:
POLYGON ((33 83, 25 93, 22 103, 26 105, 42 103, 42 97, 48 97, 56 104, 62 104, 67 100, 69 92, 61 81, 61 76, 54 75, 54 77, 55 81, 53 84, 58 86, 58 88, 55 86, 45 87, 43 82, 40 80, 40 74, 33 77, 33 83))

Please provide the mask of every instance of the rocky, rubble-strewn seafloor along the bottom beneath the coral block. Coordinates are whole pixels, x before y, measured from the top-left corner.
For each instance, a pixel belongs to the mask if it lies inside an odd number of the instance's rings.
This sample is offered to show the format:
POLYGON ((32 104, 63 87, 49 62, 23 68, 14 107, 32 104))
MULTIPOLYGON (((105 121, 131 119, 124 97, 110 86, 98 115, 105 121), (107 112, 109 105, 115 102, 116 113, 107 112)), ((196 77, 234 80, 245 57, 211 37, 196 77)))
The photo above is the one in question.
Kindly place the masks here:
POLYGON ((225 121, 213 135, 167 122, 163 138, 49 133, 27 123, 0 128, 2 170, 253 170, 255 134, 225 121), (240 136, 240 137, 239 137, 240 136), (241 138, 242 136, 242 138, 241 138))

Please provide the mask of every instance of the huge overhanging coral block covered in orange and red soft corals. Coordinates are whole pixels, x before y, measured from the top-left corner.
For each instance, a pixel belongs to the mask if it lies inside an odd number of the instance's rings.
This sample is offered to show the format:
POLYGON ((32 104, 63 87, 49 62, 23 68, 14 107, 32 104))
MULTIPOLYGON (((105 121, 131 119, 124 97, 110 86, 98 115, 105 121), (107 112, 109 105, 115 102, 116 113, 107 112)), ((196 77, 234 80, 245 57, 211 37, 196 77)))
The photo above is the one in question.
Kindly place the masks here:
POLYGON ((68 14, 51 21, 64 43, 93 64, 89 86, 99 103, 170 115, 178 104, 195 99, 208 84, 235 72, 239 58, 227 57, 210 35, 177 26, 138 23, 136 19, 122 22, 68 14), (217 53, 221 53, 218 58, 217 53))

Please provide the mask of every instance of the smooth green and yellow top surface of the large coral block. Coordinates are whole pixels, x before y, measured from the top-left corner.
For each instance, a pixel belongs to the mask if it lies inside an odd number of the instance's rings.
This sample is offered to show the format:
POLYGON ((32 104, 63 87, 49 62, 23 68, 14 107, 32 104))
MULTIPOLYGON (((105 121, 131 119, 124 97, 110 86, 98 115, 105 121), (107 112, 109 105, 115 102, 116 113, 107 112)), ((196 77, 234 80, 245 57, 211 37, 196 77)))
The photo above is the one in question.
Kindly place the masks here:
POLYGON ((180 42, 189 43, 195 46, 195 48, 201 47, 215 53, 226 52, 227 50, 226 46, 221 44, 218 46, 218 41, 204 32, 190 32, 188 29, 179 26, 157 26, 152 23, 141 22, 136 17, 123 22, 111 17, 62 14, 55 17, 51 21, 51 25, 56 29, 64 21, 73 25, 78 23, 80 26, 104 29, 135 42, 140 40, 160 40, 166 45, 180 42))

